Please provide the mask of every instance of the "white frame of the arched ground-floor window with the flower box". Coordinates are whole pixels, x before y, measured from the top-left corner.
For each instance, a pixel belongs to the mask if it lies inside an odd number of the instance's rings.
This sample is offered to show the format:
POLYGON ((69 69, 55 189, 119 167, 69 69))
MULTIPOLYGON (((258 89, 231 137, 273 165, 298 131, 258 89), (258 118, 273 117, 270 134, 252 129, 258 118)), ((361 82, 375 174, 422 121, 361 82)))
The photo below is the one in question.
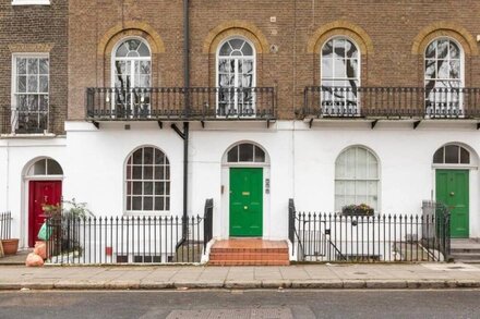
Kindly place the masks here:
MULTIPOLYGON (((356 165, 357 165, 357 154, 356 154, 356 165)), ((376 207, 372 207, 373 209, 374 209, 374 211, 375 211, 375 213, 377 213, 377 212, 380 212, 380 208, 381 208, 381 180, 382 180, 382 177, 381 177, 381 172, 382 172, 382 170, 381 170, 381 162, 380 162, 380 159, 379 159, 379 157, 376 156, 376 154, 373 151, 373 150, 371 150, 369 147, 365 147, 365 146, 362 146, 362 145, 352 145, 352 146, 349 146, 349 147, 347 147, 347 148, 345 148, 345 149, 343 149, 341 151, 340 151, 340 154, 337 156, 337 158, 335 159, 335 172, 334 172, 334 174, 335 174, 335 185, 334 185, 334 205, 335 205, 335 211, 339 211, 339 212, 341 212, 341 208, 343 207, 337 207, 338 205, 337 205, 337 182, 357 182, 357 181, 364 181, 364 182, 376 182, 376 207), (340 158, 340 156, 341 155, 344 155, 346 151, 348 151, 348 150, 350 150, 350 149, 359 149, 359 148, 361 148, 361 149, 364 149, 367 152, 369 152, 370 155, 372 155, 374 158, 375 158, 375 160, 376 160, 376 179, 370 179, 370 177, 365 177, 365 179, 358 179, 358 177, 355 177, 355 179, 347 179, 347 177, 337 177, 337 170, 338 170, 338 168, 337 168, 337 162, 338 162, 338 160, 339 160, 339 158, 340 158)), ((368 192, 367 192, 368 193, 368 192)), ((343 196, 346 196, 346 192, 344 192, 343 194, 341 194, 343 196)), ((353 196, 357 198, 357 191, 356 191, 356 194, 353 194, 353 196)), ((369 194, 367 194, 367 196, 369 196, 369 194)), ((360 205, 360 204, 367 204, 368 205, 368 203, 357 203, 357 200, 355 200, 356 203, 351 203, 351 204, 355 204, 355 205, 360 205)), ((351 204, 346 204, 346 205, 351 205, 351 204)))

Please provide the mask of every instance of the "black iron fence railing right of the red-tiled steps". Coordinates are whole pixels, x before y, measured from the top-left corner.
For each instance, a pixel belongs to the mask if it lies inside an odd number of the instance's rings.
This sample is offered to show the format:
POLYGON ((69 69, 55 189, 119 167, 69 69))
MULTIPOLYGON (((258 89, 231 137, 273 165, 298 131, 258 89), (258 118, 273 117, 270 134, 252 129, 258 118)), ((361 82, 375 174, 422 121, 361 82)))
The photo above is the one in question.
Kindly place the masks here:
POLYGON ((299 261, 446 261, 449 213, 432 216, 295 212, 293 256, 299 261))

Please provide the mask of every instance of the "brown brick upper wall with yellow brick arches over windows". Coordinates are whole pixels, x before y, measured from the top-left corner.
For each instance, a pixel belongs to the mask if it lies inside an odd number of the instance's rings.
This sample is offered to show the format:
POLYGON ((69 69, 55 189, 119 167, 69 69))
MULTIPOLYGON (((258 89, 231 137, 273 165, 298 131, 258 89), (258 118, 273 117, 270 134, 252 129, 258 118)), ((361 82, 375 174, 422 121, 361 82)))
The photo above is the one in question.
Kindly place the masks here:
MULTIPOLYGON (((84 118, 86 87, 110 85, 109 50, 122 35, 156 34, 164 50, 153 56, 153 86, 183 85, 182 2, 71 1, 70 119, 84 118)), ((422 86, 421 52, 435 35, 455 37, 464 45, 466 86, 479 86, 475 40, 480 34, 479 13, 480 2, 473 0, 193 0, 191 85, 215 86, 215 48, 211 46, 241 32, 259 46, 267 46, 257 48, 257 86, 277 88, 281 119, 292 119, 302 107, 305 86, 319 85, 322 40, 343 33, 364 47, 362 86, 422 86), (271 22, 273 16, 276 22, 271 22), (269 52, 271 45, 278 46, 278 52, 269 52)))

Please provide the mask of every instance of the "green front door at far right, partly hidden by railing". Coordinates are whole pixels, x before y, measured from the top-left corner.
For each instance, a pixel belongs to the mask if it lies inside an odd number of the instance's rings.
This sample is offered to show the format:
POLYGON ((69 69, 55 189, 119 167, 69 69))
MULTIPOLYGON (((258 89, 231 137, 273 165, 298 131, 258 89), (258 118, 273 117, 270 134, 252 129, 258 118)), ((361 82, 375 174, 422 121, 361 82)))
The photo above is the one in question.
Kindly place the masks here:
POLYGON ((436 170, 436 201, 451 212, 451 236, 468 237, 469 233, 468 170, 436 170))

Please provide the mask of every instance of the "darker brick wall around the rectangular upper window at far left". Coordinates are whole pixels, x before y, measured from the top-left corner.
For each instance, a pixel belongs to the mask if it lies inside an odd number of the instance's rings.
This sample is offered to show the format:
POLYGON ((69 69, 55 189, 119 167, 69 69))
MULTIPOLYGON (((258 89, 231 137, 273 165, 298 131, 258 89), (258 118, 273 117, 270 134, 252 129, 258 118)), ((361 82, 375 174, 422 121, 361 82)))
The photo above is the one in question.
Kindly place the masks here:
POLYGON ((68 105, 68 0, 51 0, 51 5, 0 3, 0 99, 2 109, 11 108, 12 53, 50 54, 50 106, 52 131, 62 134, 68 105))

